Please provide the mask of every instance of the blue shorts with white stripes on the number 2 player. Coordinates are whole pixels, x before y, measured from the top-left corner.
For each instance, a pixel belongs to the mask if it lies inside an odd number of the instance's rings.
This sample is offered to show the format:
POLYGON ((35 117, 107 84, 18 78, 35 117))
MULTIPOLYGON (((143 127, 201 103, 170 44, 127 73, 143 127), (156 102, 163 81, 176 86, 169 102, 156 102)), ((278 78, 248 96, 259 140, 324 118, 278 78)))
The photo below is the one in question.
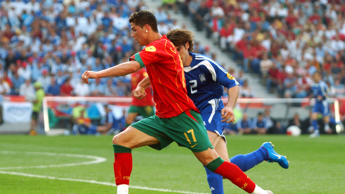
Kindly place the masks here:
MULTIPOLYGON (((201 112, 203 118, 203 124, 207 131, 214 132, 219 136, 223 136, 224 140, 224 128, 225 122, 222 122, 222 109, 224 108, 223 101, 221 99, 212 99, 208 101, 210 106, 207 106, 201 112)), ((226 142, 226 140, 225 140, 226 142)))

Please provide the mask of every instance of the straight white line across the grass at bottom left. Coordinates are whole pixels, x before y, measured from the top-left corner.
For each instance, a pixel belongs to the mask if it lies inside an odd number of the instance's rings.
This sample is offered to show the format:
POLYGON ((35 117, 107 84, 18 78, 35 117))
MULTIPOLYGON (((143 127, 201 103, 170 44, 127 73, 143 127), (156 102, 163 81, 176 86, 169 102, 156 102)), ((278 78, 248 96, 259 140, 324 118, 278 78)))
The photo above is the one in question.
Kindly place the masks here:
MULTIPOLYGON (((0 171, 0 174, 4 174, 4 175, 19 175, 19 176, 27 176, 27 177, 34 177, 34 178, 47 178, 47 179, 75 181, 75 182, 84 182, 84 183, 93 183, 93 184, 100 184, 100 185, 107 185, 107 186, 114 186, 114 187, 116 187, 115 183, 100 182, 100 181, 96 181, 96 180, 82 180, 82 179, 74 179, 74 178, 59 178, 59 177, 54 177, 54 176, 33 175, 33 174, 26 174, 26 173, 7 172, 7 171, 0 171)), ((149 191, 167 192, 167 193, 179 193, 179 194, 205 194, 205 193, 174 191, 174 190, 168 190, 168 189, 157 189, 157 188, 149 188, 149 187, 141 187, 141 186, 131 186, 131 185, 129 186, 129 188, 141 189, 141 190, 149 190, 149 191)))

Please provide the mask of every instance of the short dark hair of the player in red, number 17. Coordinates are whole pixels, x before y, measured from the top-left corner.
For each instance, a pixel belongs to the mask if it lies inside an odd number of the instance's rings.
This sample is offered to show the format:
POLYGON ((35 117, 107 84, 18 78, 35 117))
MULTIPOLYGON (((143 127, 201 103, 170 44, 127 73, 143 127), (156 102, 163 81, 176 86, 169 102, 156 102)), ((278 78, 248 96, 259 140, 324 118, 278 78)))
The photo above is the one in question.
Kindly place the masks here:
POLYGON ((154 32, 158 32, 157 19, 152 11, 141 10, 139 12, 134 12, 131 17, 129 17, 128 21, 129 23, 134 23, 141 28, 143 28, 144 25, 147 24, 152 28, 154 32))

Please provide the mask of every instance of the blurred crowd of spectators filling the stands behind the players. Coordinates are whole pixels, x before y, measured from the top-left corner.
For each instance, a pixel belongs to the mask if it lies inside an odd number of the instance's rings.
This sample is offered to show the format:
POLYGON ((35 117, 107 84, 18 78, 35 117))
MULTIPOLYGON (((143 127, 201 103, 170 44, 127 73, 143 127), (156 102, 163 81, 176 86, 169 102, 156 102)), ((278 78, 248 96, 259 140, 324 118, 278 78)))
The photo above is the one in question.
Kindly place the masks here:
MULTIPOLYGON (((166 11, 169 7, 190 17, 198 31, 241 66, 238 74, 228 69, 240 82, 241 97, 254 97, 244 73, 259 74, 267 92, 279 97, 307 97, 316 71, 323 72, 333 97, 344 97, 344 1, 162 0, 154 11, 161 34, 183 28, 166 11)), ((81 75, 125 62, 142 49, 133 42, 128 23, 142 9, 148 9, 142 0, 0 0, 0 95, 33 101, 42 87, 48 96, 130 96, 130 75, 91 79, 90 84, 81 75)), ((218 62, 217 54, 200 42, 194 52, 218 62)), ((254 122, 243 114, 227 126, 228 132, 285 132, 288 125, 265 114, 254 122)), ((297 120, 291 122, 300 126, 297 120)), ((308 127, 301 128, 308 133, 308 127)))

